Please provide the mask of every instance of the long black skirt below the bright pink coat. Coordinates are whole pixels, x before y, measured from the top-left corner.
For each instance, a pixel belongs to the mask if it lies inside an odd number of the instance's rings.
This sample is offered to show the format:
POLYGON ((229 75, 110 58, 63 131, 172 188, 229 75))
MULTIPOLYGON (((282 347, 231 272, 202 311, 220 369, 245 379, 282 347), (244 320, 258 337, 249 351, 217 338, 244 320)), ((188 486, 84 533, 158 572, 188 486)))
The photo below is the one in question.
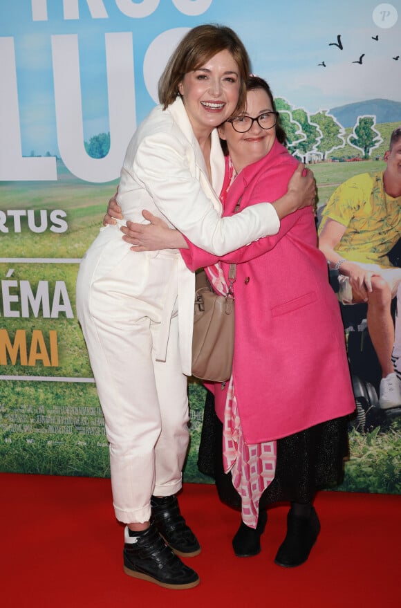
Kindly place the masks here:
MULTIPOLYGON (((277 440, 275 477, 265 489, 260 507, 282 501, 311 502, 317 490, 334 488, 344 478, 348 456, 348 416, 320 423, 277 440)), ((218 496, 241 509, 231 473, 223 471, 223 424, 214 411, 214 396, 207 391, 198 468, 214 477, 218 496)))

